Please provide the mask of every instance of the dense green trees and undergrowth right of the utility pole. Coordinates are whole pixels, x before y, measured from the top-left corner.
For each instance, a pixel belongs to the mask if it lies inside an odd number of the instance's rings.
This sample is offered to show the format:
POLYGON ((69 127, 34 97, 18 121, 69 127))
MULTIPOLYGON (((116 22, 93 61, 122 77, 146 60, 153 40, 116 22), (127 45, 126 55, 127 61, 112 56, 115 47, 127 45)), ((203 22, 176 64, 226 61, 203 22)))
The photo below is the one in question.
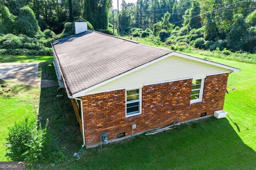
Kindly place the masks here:
MULTIPOLYGON (((202 49, 214 48, 218 43, 221 49, 256 53, 254 0, 138 0, 136 4, 122 0, 121 9, 119 22, 123 35, 136 27, 139 29, 133 29, 133 35, 141 36, 140 29, 148 28, 153 30, 154 41, 165 33, 165 38, 160 38, 162 42, 173 44, 174 35, 183 45, 184 42, 194 45, 196 39, 188 35, 197 32, 194 36, 201 38, 198 46, 202 49)), ((109 22, 113 22, 111 17, 109 22)))

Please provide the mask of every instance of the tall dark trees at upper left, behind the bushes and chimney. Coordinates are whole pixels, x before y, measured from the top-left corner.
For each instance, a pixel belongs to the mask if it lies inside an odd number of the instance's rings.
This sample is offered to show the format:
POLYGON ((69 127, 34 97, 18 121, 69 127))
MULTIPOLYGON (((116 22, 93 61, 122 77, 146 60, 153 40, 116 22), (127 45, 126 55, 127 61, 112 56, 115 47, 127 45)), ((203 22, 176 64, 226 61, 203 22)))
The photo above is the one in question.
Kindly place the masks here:
POLYGON ((107 29, 112 0, 4 0, 0 6, 7 7, 14 19, 20 15, 21 8, 28 6, 33 10, 41 31, 50 29, 61 33, 64 23, 80 18, 92 23, 95 29, 107 29))

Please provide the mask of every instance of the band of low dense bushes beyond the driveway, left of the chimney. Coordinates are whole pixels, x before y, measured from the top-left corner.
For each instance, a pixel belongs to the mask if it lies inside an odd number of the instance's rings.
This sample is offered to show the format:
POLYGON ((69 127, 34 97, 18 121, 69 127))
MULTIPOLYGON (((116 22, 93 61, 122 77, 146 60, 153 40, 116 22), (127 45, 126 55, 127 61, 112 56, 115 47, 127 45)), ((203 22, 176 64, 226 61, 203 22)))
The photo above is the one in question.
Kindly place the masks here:
MULTIPOLYGON (((80 21, 80 20, 79 20, 80 21)), ((82 20, 85 21, 85 20, 82 20)), ((94 30, 89 22, 88 29, 94 30)), ((104 30, 104 33, 111 33, 110 30, 104 30)), ((52 55, 51 41, 75 34, 74 23, 65 23, 62 33, 56 35, 50 29, 44 30, 34 37, 28 35, 0 34, 0 54, 11 55, 52 55)))

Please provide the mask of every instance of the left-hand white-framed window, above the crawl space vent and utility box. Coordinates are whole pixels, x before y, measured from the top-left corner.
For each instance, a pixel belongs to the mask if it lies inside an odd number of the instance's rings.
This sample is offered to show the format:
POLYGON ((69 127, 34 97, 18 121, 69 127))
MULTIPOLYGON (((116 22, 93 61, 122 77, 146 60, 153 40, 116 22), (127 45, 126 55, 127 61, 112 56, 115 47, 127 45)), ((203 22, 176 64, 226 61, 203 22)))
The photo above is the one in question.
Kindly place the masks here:
POLYGON ((126 90, 126 117, 140 114, 141 89, 126 90))

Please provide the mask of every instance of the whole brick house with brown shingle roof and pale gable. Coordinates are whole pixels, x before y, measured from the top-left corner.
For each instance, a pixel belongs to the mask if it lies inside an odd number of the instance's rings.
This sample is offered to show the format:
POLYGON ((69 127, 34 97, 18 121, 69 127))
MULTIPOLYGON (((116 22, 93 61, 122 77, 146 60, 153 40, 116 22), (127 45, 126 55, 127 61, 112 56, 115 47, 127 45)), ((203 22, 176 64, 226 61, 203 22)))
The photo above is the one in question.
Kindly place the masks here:
POLYGON ((99 145, 104 131, 112 142, 212 116, 223 109, 228 74, 240 71, 89 30, 52 48, 87 148, 99 145))

